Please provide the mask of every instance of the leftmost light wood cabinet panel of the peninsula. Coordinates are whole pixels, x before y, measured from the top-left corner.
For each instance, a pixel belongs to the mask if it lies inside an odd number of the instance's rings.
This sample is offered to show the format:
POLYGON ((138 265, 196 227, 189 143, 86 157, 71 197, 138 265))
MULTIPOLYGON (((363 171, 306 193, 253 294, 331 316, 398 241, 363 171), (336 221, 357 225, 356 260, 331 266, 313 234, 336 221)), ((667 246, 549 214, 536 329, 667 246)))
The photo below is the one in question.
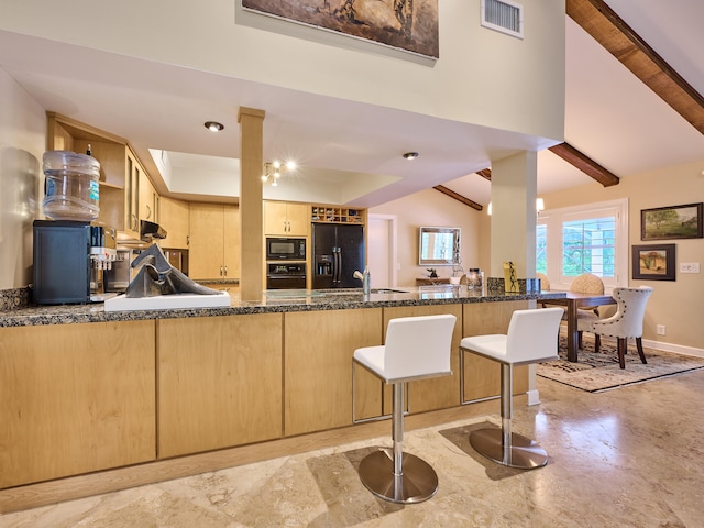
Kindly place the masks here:
POLYGON ((155 459, 154 324, 0 329, 0 488, 155 459))

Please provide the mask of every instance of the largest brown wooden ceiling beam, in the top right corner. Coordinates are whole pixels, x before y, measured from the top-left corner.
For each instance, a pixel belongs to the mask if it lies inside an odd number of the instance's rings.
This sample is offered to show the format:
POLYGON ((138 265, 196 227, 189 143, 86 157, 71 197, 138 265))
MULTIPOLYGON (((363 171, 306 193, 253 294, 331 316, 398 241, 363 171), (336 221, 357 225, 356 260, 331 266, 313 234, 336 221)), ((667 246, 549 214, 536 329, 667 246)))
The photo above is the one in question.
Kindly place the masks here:
POLYGON ((704 97, 604 0, 566 0, 566 13, 663 101, 704 134, 704 97))

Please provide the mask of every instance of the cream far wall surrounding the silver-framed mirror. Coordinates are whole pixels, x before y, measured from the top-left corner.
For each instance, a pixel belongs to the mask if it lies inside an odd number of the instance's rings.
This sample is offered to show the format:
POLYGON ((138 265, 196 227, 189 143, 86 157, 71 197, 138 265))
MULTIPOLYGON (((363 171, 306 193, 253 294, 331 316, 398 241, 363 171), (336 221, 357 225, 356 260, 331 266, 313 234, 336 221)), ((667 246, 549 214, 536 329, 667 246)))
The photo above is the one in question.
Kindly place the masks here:
MULTIPOLYGON (((418 228, 444 226, 461 229, 462 266, 480 267, 480 224, 482 213, 464 204, 428 189, 370 208, 370 213, 395 215, 398 230, 398 286, 416 286, 416 278, 427 277, 427 266, 418 265, 418 228)), ((452 266, 435 266, 438 275, 449 277, 452 266)), ((374 279, 372 278, 374 284, 374 279)))

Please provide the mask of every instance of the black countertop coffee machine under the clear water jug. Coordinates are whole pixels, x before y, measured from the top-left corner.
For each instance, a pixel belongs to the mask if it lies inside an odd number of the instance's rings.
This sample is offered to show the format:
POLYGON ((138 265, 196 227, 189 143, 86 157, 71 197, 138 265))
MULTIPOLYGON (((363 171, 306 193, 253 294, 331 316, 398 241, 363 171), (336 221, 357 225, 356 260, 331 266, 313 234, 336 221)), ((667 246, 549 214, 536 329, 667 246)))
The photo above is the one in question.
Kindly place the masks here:
POLYGON ((110 270, 116 258, 112 228, 35 220, 34 301, 62 305, 105 300, 103 271, 110 270))

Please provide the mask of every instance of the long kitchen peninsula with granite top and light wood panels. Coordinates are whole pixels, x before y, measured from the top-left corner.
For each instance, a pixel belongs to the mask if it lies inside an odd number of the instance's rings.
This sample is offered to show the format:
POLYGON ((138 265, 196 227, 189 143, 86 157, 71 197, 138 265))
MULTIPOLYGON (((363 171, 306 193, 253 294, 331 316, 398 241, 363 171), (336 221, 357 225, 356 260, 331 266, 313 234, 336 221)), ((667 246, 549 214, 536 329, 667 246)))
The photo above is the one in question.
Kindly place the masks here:
POLYGON ((391 397, 366 371, 353 383, 352 354, 382 344, 395 317, 458 317, 453 375, 411 383, 411 417, 491 398, 498 370, 471 355, 460 394, 461 338, 505 332, 515 309, 563 295, 278 290, 226 308, 0 312, 0 513, 244 463, 238 447, 250 462, 342 443, 340 431, 377 436, 391 397))

